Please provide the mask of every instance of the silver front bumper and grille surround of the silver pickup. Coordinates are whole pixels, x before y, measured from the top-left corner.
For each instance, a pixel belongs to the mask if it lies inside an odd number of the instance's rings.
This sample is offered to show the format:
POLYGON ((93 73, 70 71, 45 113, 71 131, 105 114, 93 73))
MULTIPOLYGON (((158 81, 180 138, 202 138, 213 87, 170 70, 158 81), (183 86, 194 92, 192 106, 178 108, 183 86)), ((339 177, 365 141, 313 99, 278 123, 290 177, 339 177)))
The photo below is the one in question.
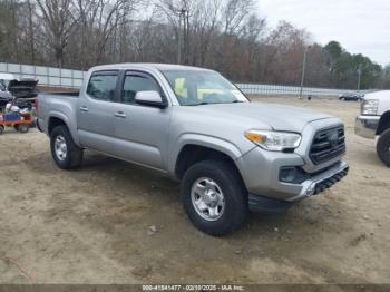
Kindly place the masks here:
POLYGON ((269 152, 255 147, 236 159, 236 166, 250 194, 251 210, 259 210, 262 205, 267 210, 283 210, 323 192, 347 175, 349 166, 341 160, 344 154, 320 164, 313 164, 310 158, 315 134, 342 125, 338 118, 314 120, 303 128, 301 144, 294 153, 269 152), (298 179, 283 179, 281 169, 294 167, 303 175, 296 176, 298 179))

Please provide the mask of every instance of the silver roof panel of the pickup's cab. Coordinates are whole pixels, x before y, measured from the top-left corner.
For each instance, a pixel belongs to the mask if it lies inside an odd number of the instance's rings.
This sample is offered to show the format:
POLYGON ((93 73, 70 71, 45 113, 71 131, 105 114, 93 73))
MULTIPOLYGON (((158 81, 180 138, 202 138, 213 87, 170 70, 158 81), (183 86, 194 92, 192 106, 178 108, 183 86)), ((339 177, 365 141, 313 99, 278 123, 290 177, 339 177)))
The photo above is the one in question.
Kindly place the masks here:
POLYGON ((139 69, 155 69, 155 70, 209 70, 206 68, 174 65, 174 64, 153 64, 153 62, 123 62, 111 65, 100 65, 92 67, 90 70, 110 70, 110 69, 127 69, 127 68, 139 68, 139 69))

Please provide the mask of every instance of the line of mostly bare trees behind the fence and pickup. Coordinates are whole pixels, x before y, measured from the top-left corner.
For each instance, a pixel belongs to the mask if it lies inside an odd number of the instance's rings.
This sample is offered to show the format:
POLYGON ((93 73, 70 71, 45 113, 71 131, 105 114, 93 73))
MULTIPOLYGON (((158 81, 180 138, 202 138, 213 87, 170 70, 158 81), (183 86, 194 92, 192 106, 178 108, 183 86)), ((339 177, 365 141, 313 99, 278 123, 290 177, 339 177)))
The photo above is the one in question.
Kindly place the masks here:
POLYGON ((87 70, 111 62, 181 62, 234 81, 390 88, 390 65, 321 46, 304 29, 266 26, 254 0, 1 0, 0 60, 87 70))

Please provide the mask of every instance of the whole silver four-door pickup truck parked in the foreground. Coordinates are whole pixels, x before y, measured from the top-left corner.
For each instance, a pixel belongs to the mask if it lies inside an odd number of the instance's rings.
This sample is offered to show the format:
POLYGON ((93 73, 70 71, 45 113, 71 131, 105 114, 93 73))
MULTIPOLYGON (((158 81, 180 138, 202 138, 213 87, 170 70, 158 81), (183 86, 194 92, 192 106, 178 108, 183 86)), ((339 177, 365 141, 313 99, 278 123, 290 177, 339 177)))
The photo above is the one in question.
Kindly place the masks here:
POLYGON ((343 123, 250 100, 218 72, 121 64, 91 68, 77 95, 38 97, 38 126, 64 169, 84 149, 182 182, 196 227, 223 235, 248 211, 283 212, 347 175, 343 123))

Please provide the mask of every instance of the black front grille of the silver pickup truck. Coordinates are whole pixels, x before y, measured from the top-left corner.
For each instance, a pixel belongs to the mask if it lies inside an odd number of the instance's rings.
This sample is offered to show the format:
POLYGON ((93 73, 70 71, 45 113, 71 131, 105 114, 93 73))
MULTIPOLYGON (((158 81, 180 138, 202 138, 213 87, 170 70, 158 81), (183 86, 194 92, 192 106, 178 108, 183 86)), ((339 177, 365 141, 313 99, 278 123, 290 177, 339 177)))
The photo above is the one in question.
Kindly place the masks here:
POLYGON ((310 159, 316 165, 328 162, 345 152, 344 127, 323 129, 314 135, 310 159))

